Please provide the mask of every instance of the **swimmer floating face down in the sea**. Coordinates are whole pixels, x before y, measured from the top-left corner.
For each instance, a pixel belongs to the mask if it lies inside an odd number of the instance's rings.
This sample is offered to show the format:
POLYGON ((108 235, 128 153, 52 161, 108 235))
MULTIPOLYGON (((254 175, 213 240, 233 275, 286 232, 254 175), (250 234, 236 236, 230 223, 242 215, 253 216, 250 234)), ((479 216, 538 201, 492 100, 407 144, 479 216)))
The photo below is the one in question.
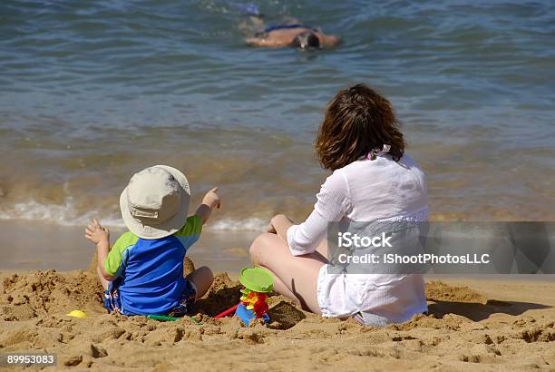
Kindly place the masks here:
MULTIPOLYGON (((258 24, 263 25, 259 18, 258 24)), ((281 48, 293 46, 300 49, 324 48, 339 43, 334 35, 324 34, 321 30, 304 24, 277 24, 247 38, 247 43, 254 46, 281 48)))

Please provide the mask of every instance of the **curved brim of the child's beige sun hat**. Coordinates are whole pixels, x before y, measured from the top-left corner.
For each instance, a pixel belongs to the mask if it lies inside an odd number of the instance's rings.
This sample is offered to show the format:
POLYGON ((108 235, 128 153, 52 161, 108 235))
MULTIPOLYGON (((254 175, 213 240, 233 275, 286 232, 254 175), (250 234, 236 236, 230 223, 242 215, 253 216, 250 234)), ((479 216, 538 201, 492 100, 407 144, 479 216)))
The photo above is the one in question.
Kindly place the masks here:
POLYGON ((170 220, 166 220, 158 225, 143 225, 140 220, 135 219, 131 215, 127 199, 127 187, 122 191, 122 195, 120 195, 120 209, 122 210, 125 226, 139 238, 148 240, 165 238, 179 231, 187 221, 190 201, 189 181, 187 181, 185 174, 167 165, 155 165, 155 167, 170 172, 180 184, 180 207, 170 220))

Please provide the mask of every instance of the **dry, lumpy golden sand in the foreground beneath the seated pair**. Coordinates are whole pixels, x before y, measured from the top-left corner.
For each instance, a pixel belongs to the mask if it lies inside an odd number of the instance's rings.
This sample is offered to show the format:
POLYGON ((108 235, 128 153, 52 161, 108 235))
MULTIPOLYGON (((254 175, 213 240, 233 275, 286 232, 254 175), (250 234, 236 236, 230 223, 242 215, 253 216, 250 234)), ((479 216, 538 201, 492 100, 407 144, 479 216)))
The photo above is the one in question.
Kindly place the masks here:
MULTIPOLYGON (((190 265, 188 266, 190 269, 190 265)), ((324 319, 270 298, 272 323, 214 319, 239 300, 219 273, 194 318, 106 314, 92 270, 3 272, 0 352, 58 354, 93 370, 555 370, 555 283, 428 280, 429 315, 387 328, 324 319), (65 316, 82 309, 88 318, 65 316)))

